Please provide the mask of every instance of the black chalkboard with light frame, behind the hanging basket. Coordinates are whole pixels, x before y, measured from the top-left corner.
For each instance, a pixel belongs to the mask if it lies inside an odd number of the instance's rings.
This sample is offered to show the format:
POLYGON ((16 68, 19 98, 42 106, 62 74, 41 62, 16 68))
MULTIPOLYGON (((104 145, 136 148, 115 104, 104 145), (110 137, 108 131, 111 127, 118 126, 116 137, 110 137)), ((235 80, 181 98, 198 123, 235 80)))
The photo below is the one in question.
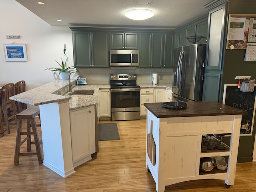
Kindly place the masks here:
POLYGON ((225 84, 222 103, 248 112, 247 115, 242 115, 240 135, 252 135, 256 106, 254 92, 242 92, 237 88, 237 84, 225 84))

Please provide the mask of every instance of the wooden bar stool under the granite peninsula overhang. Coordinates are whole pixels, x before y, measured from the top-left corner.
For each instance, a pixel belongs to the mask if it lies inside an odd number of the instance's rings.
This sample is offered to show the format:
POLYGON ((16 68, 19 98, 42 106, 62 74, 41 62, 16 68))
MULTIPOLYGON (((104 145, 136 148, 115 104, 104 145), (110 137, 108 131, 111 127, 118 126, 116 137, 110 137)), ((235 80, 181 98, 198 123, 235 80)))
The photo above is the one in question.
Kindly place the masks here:
POLYGON ((35 106, 35 107, 33 106, 30 108, 27 108, 26 110, 20 112, 19 114, 16 114, 17 135, 16 135, 15 154, 14 154, 14 165, 19 164, 20 156, 29 156, 29 155, 37 155, 39 164, 43 163, 42 151, 40 148, 40 144, 42 144, 42 140, 39 141, 38 132, 36 128, 36 119, 35 119, 35 117, 39 114, 40 114, 39 106, 35 106), (24 119, 27 120, 26 132, 22 132, 22 122, 24 119), (31 127, 32 127, 32 132, 31 132, 31 127), (27 135, 27 136, 21 141, 22 135, 27 135), (34 142, 31 141, 31 137, 30 137, 31 135, 34 136, 34 142), (20 153, 20 146, 26 141, 27 141, 27 152, 20 153), (30 152, 31 144, 36 145, 36 152, 30 152))

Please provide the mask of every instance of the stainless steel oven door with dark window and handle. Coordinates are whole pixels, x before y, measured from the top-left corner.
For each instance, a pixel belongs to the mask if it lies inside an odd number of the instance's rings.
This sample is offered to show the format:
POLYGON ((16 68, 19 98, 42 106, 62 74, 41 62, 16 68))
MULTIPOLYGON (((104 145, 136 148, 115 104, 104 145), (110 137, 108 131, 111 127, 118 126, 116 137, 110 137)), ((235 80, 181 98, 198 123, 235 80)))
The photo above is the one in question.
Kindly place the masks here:
POLYGON ((140 88, 111 89, 111 112, 140 111, 140 88))

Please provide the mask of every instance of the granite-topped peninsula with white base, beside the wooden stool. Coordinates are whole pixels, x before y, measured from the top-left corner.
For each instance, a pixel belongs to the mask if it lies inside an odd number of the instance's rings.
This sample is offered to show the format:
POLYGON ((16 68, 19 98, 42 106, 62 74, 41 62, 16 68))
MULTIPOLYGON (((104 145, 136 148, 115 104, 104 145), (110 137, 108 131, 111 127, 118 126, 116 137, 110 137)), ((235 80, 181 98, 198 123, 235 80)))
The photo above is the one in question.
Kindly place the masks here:
POLYGON ((76 166, 90 160, 91 154, 95 152, 95 118, 99 88, 110 88, 110 86, 73 86, 73 91, 94 90, 94 94, 70 96, 68 95, 68 80, 56 80, 10 98, 40 107, 43 164, 64 178, 73 174, 76 166), (78 118, 81 120, 77 121, 78 118), (88 124, 85 122, 87 120, 90 121, 87 126, 88 134, 81 135, 81 133, 84 134, 84 123, 88 124), (81 124, 83 124, 83 128, 80 127, 81 124), (72 134, 80 137, 72 140, 72 134), (87 139, 90 140, 87 141, 88 145, 74 148, 74 144, 79 144, 87 139))

